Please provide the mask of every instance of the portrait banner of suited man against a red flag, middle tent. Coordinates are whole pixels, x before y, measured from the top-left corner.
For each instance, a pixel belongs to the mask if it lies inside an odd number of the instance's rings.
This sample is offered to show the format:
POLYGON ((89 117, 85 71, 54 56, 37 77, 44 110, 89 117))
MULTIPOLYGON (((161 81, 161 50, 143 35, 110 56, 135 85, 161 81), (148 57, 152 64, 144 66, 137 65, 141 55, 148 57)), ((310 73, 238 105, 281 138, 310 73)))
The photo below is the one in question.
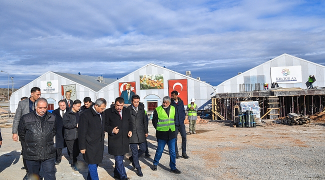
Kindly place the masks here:
POLYGON ((135 82, 118 82, 118 95, 123 97, 125 104, 131 103, 134 94, 136 94, 135 82))

